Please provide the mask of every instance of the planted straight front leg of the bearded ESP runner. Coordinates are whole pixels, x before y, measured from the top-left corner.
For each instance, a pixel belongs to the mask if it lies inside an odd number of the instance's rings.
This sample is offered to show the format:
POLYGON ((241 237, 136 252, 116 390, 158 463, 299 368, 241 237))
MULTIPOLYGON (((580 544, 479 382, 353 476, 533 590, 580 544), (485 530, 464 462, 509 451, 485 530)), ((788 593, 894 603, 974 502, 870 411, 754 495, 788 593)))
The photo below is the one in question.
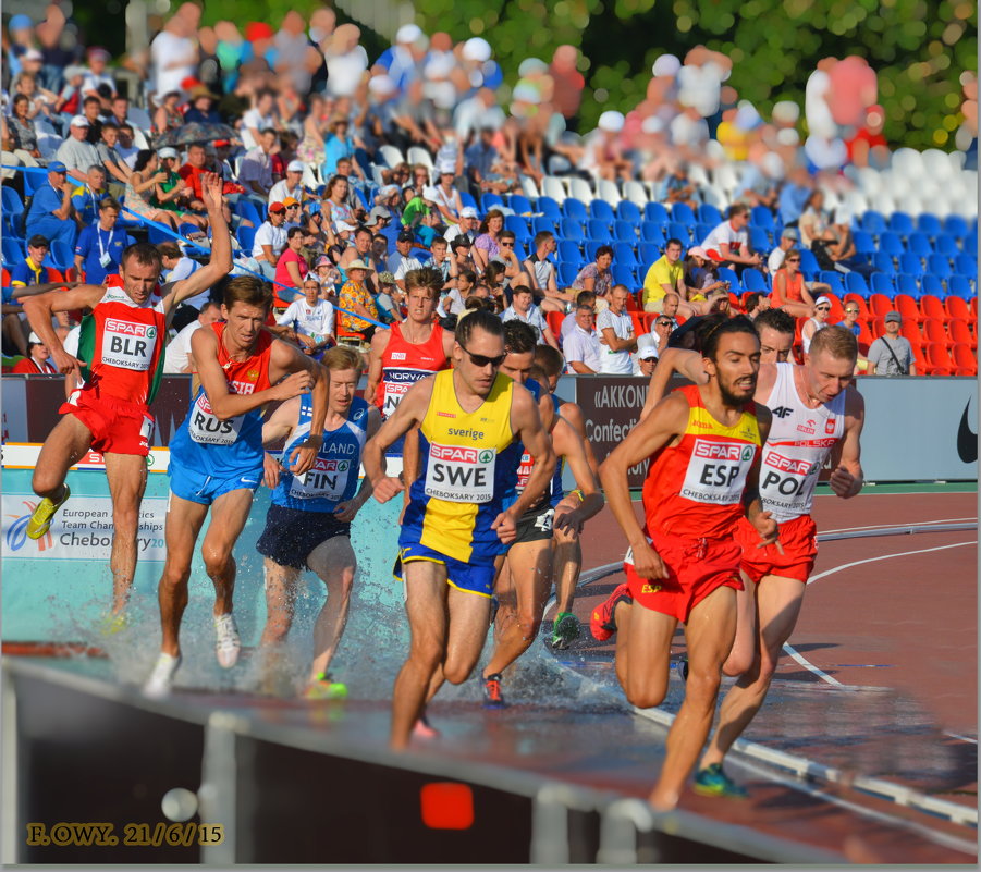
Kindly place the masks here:
MULTIPOLYGON (((655 809, 677 806, 685 782, 695 767, 715 716, 722 663, 732 650, 735 632, 736 591, 732 588, 716 588, 688 615, 685 701, 667 732, 664 765, 649 797, 655 809)), ((670 638, 667 641, 670 644, 670 638)))

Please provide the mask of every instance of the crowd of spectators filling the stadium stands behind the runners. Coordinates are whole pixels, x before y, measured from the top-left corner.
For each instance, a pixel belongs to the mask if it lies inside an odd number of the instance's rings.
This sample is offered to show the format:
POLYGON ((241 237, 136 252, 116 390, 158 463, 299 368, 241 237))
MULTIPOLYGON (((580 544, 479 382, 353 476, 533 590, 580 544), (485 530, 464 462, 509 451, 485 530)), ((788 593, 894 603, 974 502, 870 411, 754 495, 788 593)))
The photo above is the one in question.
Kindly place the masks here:
MULTIPOLYGON (((19 286, 107 281, 144 236, 164 255, 162 281, 197 268, 209 170, 224 179, 235 269, 274 282, 271 328, 311 354, 401 320, 405 277, 424 267, 443 277, 447 324, 491 307, 580 373, 643 371, 680 323, 720 310, 781 307, 801 319, 806 346, 836 290, 818 270, 879 269, 854 230, 869 205, 861 173, 891 160, 881 109, 867 100, 853 123, 811 125, 821 136, 805 139, 799 107, 783 101, 764 120, 726 84, 732 60, 703 47, 659 58, 633 111, 584 131, 571 46, 505 83, 481 37, 454 44, 406 24, 371 58, 327 8, 240 29, 203 25, 188 2, 145 57, 112 64, 97 46, 64 50, 70 22, 57 5, 45 14, 9 22, 0 115, 3 163, 26 170, 3 170, 4 234, 24 241, 3 248, 4 348, 27 358, 19 286), (552 194, 554 206, 580 200, 581 214, 545 212, 538 195, 552 194), (594 200, 635 206, 603 217, 594 200), (665 220, 641 214, 652 204, 665 220), (684 238, 667 220, 696 212, 684 238), (659 221, 648 240, 643 225, 659 221)), ((184 307, 179 335, 214 315, 208 303, 184 307)), ((187 366, 180 347, 173 366, 187 366)))

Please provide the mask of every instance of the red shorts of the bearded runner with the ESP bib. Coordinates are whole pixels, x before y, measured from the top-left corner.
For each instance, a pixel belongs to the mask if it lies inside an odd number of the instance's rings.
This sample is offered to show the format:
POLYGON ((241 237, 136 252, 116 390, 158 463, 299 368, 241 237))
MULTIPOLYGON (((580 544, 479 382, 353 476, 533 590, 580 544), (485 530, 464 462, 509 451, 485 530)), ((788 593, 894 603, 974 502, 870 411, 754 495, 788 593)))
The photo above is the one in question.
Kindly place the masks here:
POLYGON ((733 539, 655 536, 653 548, 667 568, 667 578, 641 578, 631 563, 624 563, 630 595, 645 609, 687 623, 691 610, 712 591, 722 587, 743 590, 741 549, 733 539))

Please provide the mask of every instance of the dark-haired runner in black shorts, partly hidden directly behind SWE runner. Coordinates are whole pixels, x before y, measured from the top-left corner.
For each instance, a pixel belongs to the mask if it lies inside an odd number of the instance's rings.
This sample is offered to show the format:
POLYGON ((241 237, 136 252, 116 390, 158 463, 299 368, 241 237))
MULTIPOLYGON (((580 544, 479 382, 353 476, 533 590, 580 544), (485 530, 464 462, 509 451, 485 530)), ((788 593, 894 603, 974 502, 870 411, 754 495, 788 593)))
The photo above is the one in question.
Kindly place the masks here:
MULTIPOLYGON (((501 673, 531 647, 541 625, 545 600, 552 586, 553 528, 578 538, 583 525, 603 507, 599 481, 589 468, 586 449, 579 434, 557 415, 557 398, 529 378, 535 366, 536 334, 522 321, 504 324, 504 351, 501 374, 524 384, 539 398, 545 429, 557 458, 568 460, 578 490, 575 505, 562 503, 562 462, 556 460, 552 482, 537 501, 518 518, 517 537, 507 549, 503 566, 494 584, 499 609, 494 621, 494 650, 483 668, 483 696, 488 708, 502 708, 501 673)), ((537 368, 536 368, 537 369, 537 368)), ((537 373, 541 378, 541 370, 537 373)), ((514 489, 505 498, 513 504, 524 490, 531 458, 522 454, 514 489)))

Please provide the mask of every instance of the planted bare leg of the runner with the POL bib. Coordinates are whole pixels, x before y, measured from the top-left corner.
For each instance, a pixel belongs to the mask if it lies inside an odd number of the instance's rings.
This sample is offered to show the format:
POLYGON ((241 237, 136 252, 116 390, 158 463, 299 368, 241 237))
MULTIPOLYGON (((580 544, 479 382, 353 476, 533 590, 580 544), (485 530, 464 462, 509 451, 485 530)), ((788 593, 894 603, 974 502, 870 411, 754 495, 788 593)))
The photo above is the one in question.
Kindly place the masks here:
MULTIPOLYGON (((729 688, 719 712, 719 727, 702 756, 702 767, 721 763, 767 698, 784 642, 790 638, 804 603, 805 585, 796 578, 764 576, 757 587, 759 648, 752 665, 729 688)), ((689 678, 690 681, 690 678, 689 678)))

